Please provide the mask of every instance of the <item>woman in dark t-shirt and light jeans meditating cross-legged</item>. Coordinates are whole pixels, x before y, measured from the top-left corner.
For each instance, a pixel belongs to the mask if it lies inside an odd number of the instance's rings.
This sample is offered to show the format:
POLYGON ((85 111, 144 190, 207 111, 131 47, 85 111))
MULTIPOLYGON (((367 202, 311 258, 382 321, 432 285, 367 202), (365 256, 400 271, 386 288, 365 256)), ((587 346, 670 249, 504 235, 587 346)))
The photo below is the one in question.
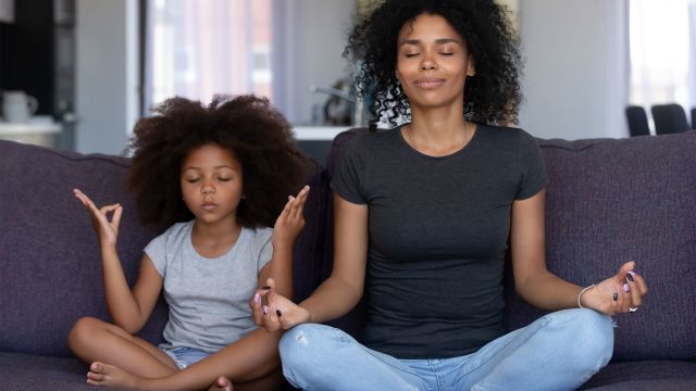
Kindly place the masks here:
POLYGON ((271 311, 254 306, 259 325, 289 329, 286 378, 313 390, 585 382, 611 357, 609 316, 635 311, 647 288, 633 262, 585 288, 547 270, 540 152, 523 130, 494 126, 517 122, 521 99, 505 11, 489 0, 387 0, 349 42, 360 85, 376 91, 375 118, 410 121, 346 147, 332 181, 331 277, 299 305, 271 289, 271 311), (557 312, 506 335, 508 245, 518 293, 557 312), (363 291, 364 344, 318 325, 363 291))

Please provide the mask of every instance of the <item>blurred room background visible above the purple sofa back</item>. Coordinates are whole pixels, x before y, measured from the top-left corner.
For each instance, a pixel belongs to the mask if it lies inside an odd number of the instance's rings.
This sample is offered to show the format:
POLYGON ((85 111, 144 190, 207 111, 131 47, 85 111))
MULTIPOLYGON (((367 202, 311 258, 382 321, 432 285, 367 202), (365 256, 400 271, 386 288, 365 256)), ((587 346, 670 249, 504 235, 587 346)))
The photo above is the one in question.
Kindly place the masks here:
MULTIPOLYGON (((629 137, 625 109, 696 105, 694 0, 508 0, 525 60, 520 127, 629 137)), ((321 160, 366 123, 341 56, 369 1, 0 0, 0 138, 121 153, 173 96, 266 96, 321 160)))

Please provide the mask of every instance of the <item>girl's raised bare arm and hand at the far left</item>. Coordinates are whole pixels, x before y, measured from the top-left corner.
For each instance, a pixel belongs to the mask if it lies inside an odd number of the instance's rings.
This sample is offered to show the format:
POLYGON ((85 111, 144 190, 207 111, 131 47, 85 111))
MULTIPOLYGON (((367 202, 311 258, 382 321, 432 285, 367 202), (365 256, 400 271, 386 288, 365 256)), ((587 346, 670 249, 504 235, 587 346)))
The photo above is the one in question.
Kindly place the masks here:
POLYGON ((129 333, 139 331, 149 318, 162 289, 162 276, 157 272, 147 255, 140 262, 140 274, 133 287, 128 287, 121 260, 116 252, 119 224, 123 207, 113 204, 98 209, 82 191, 75 190, 75 197, 89 211, 92 225, 99 237, 101 249, 102 275, 107 307, 114 324, 129 333), (113 213, 109 220, 109 213, 113 213))

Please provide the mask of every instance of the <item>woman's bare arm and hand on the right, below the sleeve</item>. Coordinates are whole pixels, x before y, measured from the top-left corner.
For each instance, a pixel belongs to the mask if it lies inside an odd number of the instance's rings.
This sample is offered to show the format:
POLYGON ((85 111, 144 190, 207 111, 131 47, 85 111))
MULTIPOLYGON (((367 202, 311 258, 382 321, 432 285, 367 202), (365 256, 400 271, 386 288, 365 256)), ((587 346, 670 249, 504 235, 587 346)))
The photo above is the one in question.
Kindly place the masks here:
MULTIPOLYGON (((546 268, 545 202, 546 190, 542 190, 526 200, 512 203, 510 247, 515 290, 526 302, 543 310, 576 308, 582 288, 546 268)), ((629 282, 626 274, 633 266, 633 262, 625 263, 617 275, 585 292, 582 295, 583 306, 613 315, 639 305, 646 289, 637 274, 632 275, 635 281, 629 282), (633 291, 625 292, 624 283, 633 285, 633 291), (613 293, 617 293, 616 300, 613 293)))

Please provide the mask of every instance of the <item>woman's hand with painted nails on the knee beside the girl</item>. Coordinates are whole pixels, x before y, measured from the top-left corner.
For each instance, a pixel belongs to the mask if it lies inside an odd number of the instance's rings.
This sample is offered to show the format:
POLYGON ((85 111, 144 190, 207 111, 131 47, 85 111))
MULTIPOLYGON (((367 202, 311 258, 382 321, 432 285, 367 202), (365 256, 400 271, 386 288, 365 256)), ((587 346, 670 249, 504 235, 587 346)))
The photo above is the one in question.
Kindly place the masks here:
POLYGON ((251 299, 253 321, 269 331, 287 330, 309 323, 309 312, 275 291, 275 280, 266 279, 266 286, 257 290, 251 299))

